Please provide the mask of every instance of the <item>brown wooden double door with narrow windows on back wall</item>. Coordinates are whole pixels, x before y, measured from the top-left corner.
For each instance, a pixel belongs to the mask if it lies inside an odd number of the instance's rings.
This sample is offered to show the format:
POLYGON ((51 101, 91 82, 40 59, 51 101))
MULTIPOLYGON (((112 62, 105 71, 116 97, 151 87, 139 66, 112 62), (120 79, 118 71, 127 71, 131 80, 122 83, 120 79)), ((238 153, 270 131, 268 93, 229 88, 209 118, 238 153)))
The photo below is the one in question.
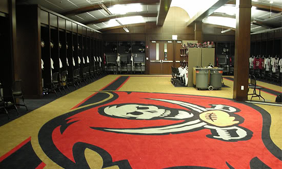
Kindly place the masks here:
MULTIPOLYGON (((171 66, 179 65, 176 41, 150 41, 150 74, 171 74, 171 66), (177 56, 178 57, 177 57, 177 56)), ((177 48, 177 49, 178 49, 177 48)))

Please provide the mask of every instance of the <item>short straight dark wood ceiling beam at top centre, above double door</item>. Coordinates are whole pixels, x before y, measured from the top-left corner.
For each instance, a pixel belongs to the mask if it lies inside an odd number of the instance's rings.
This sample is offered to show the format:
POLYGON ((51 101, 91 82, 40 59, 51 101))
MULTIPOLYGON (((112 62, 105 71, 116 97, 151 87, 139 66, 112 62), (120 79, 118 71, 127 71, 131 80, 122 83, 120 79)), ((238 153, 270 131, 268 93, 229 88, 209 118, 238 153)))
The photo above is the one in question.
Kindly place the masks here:
POLYGON ((172 0, 160 0, 157 14, 157 26, 163 26, 172 0))

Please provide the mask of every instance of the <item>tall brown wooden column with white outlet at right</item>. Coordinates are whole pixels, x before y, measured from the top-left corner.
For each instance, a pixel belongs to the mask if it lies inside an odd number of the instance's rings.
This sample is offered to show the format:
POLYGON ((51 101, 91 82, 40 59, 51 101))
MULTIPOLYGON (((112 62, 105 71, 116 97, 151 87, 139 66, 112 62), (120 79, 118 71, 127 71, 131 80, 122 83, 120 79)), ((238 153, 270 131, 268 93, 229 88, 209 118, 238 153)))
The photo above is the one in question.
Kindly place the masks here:
POLYGON ((236 0, 233 99, 237 101, 248 99, 251 4, 251 0, 236 0))

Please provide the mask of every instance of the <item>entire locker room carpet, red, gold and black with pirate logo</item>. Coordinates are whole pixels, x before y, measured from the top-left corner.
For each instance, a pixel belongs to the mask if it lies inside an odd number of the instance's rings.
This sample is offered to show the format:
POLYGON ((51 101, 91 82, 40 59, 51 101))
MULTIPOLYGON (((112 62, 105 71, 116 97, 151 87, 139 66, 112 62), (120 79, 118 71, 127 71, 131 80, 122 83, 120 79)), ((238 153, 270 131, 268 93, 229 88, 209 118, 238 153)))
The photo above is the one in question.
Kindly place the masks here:
POLYGON ((108 75, 1 126, 0 168, 282 168, 282 107, 236 102, 224 82, 108 75))

